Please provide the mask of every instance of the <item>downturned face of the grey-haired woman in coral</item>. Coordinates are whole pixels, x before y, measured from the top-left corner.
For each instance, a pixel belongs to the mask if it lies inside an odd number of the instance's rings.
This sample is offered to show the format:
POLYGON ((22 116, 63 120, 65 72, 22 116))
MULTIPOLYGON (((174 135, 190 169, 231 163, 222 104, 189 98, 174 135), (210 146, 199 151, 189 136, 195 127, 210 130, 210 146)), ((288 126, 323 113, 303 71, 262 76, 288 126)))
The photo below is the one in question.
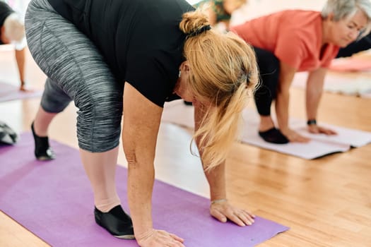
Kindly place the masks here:
MULTIPOLYGON (((331 18, 331 17, 329 17, 331 18)), ((332 43, 339 47, 346 47, 357 40, 360 33, 367 25, 367 16, 363 11, 358 10, 353 16, 342 20, 331 20, 329 36, 332 43)))

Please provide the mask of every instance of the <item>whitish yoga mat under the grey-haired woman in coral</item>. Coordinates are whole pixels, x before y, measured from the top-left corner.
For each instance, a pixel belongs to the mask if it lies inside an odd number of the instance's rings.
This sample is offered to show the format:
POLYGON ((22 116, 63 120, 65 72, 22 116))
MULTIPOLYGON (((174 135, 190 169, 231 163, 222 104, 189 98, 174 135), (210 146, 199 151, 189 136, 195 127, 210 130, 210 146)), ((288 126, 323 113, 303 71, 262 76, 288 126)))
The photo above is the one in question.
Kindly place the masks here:
MULTIPOLYGON (((175 123, 187 128, 194 128, 194 108, 185 105, 182 100, 165 104, 163 121, 175 123)), ((305 120, 290 119, 290 126, 302 135, 312 138, 309 143, 288 143, 283 145, 266 143, 258 135, 259 116, 254 109, 245 109, 243 112, 244 127, 242 142, 265 149, 282 152, 287 155, 301 157, 303 159, 316 159, 334 152, 346 152, 351 147, 361 147, 371 143, 371 133, 357 131, 350 128, 342 128, 323 124, 337 131, 338 135, 314 135, 307 132, 305 120)))

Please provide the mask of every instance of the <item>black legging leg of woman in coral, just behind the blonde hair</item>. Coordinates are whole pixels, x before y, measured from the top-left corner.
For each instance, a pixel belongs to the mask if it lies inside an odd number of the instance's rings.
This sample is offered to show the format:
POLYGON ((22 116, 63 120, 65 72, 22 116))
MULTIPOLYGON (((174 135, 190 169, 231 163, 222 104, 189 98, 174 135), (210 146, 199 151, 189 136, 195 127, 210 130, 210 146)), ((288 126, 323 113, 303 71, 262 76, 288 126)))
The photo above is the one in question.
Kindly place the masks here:
POLYGON ((280 61, 272 52, 254 47, 260 73, 260 85, 254 99, 261 116, 271 115, 271 104, 276 98, 280 61))

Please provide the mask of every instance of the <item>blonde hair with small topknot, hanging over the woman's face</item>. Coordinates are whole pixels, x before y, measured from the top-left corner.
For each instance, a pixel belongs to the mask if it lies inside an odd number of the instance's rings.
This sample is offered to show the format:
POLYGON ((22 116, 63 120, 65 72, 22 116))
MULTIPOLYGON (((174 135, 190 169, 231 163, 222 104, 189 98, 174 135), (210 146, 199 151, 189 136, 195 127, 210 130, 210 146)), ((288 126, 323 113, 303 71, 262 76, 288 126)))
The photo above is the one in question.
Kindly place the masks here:
MULTIPOLYGON (((184 33, 208 25, 201 11, 184 13, 179 24, 184 33)), ((205 30, 184 42, 184 57, 189 63, 189 85, 205 106, 204 117, 194 133, 205 169, 223 162, 236 140, 242 110, 257 85, 257 63, 254 51, 233 33, 205 30)))

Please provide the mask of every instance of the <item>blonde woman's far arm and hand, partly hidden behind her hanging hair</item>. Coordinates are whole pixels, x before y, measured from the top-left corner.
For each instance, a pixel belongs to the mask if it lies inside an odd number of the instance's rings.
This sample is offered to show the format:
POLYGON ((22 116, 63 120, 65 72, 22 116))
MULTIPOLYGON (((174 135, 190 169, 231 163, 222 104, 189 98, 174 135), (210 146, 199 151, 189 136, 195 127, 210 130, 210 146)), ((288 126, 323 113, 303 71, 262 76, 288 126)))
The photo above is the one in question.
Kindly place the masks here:
MULTIPOLYGON (((195 129, 199 128, 202 116, 204 116, 204 109, 200 104, 194 104, 194 121, 195 129)), ((199 142, 196 140, 197 146, 199 147, 199 142)), ((199 150, 202 150, 199 148, 199 150)), ((200 151, 202 157, 202 152, 200 151)), ((204 173, 210 187, 210 213, 213 217, 216 217, 220 222, 226 222, 230 219, 235 224, 240 226, 250 225, 254 222, 254 215, 247 212, 246 210, 240 210, 237 207, 233 207, 228 203, 227 192, 225 189, 225 162, 222 162, 217 167, 213 169, 206 169, 204 166, 204 173)))

